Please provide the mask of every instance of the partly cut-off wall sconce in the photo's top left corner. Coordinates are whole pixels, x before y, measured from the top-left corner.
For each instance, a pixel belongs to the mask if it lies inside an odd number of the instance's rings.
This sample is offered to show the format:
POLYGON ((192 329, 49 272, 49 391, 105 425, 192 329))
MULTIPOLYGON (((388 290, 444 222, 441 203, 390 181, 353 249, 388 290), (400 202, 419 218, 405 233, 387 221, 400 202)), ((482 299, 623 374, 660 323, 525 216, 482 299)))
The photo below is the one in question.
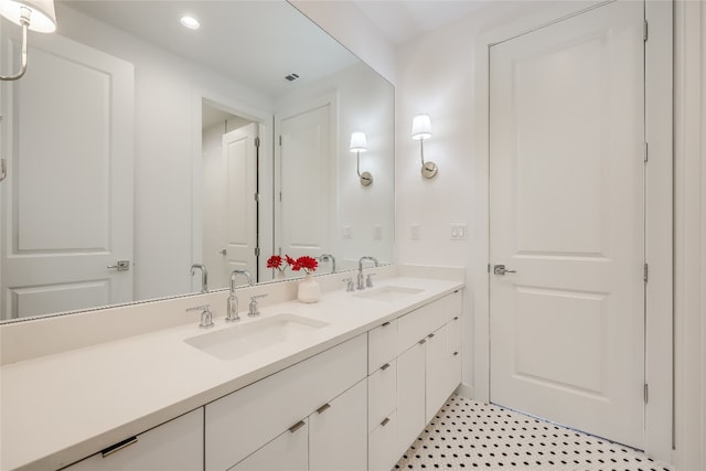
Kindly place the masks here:
POLYGON ((17 81, 26 71, 26 30, 40 33, 56 31, 54 0, 0 0, 0 14, 22 26, 22 66, 14 75, 0 81, 17 81))

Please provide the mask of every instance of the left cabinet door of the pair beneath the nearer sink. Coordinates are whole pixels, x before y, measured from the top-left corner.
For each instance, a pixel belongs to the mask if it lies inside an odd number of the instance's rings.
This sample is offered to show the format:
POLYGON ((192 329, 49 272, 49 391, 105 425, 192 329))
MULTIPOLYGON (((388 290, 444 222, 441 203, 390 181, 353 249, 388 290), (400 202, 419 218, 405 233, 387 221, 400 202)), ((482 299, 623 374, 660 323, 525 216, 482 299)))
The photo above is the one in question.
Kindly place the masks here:
POLYGON ((308 424, 302 420, 229 471, 307 471, 308 424))

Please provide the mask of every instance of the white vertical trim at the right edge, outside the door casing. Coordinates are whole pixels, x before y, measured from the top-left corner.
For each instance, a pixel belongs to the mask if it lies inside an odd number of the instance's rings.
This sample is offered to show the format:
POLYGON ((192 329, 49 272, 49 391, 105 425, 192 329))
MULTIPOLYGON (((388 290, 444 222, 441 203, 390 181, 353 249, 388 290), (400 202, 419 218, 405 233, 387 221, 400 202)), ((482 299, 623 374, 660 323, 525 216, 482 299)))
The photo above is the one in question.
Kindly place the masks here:
POLYGON ((706 469, 706 8, 674 3, 675 450, 680 470, 706 469))

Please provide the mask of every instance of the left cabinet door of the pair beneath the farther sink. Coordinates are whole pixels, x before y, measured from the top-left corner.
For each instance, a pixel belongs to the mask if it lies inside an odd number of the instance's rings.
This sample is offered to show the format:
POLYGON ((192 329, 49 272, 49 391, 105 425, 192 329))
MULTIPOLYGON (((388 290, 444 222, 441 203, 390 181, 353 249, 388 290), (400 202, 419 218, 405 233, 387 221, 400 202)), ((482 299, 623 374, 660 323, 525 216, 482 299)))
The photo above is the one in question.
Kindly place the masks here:
POLYGON ((397 454, 415 441, 425 425, 426 339, 397 357, 397 454))

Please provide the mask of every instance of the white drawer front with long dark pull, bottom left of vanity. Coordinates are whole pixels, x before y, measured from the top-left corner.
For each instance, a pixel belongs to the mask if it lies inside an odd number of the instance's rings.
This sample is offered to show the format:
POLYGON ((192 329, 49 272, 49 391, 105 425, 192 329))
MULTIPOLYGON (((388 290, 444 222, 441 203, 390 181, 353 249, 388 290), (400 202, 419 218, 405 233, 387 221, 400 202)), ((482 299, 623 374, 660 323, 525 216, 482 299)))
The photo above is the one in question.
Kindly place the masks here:
POLYGON ((203 469, 203 407, 104 449, 65 471, 203 469))

